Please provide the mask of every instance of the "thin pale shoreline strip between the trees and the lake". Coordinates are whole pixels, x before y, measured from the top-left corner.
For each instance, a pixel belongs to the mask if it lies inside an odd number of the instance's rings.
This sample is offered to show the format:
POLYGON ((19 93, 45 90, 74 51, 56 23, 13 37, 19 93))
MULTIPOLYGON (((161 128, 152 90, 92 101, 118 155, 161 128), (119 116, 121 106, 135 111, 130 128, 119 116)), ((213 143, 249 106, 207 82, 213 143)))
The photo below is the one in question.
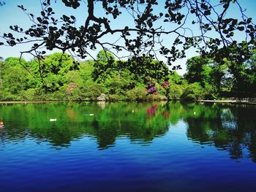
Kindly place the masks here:
MULTIPOLYGON (((170 101, 177 101, 177 100, 170 100, 170 101)), ((178 100, 178 101, 182 101, 182 100, 178 100)), ((78 102, 78 101, 0 101, 0 104, 40 104, 40 103, 64 103, 64 102, 78 102)), ((81 101, 79 101, 79 102, 81 102, 81 101)), ((103 102, 108 102, 108 101, 103 101, 103 102)), ((196 100, 195 102, 198 102, 198 103, 227 103, 227 104, 256 104, 256 102, 236 101, 236 100, 196 100)))

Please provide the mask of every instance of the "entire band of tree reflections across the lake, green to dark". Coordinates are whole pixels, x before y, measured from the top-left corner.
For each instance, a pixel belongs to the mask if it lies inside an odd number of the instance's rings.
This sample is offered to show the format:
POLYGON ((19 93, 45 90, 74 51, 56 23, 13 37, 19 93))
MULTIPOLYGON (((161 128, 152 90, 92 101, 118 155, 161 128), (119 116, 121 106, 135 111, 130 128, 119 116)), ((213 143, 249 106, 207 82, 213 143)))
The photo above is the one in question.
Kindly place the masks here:
POLYGON ((18 141, 31 134, 38 142, 61 148, 87 136, 97 140, 99 149, 106 149, 115 146, 119 137, 150 143, 182 120, 187 123, 187 138, 193 142, 227 150, 230 158, 256 162, 255 112, 255 106, 180 101, 10 104, 0 106, 0 118, 6 124, 1 139, 18 141), (57 121, 50 122, 50 118, 57 121))

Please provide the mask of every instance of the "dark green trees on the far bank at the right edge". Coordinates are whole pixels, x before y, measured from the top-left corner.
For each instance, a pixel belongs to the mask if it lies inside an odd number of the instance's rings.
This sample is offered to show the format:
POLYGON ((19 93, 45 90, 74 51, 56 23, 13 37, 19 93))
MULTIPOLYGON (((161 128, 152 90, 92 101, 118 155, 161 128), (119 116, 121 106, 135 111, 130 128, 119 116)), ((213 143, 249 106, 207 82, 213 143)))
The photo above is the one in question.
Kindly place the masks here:
POLYGON ((222 64, 195 56, 187 61, 185 79, 195 89, 203 90, 205 99, 256 96, 256 52, 244 62, 228 61, 222 64))

